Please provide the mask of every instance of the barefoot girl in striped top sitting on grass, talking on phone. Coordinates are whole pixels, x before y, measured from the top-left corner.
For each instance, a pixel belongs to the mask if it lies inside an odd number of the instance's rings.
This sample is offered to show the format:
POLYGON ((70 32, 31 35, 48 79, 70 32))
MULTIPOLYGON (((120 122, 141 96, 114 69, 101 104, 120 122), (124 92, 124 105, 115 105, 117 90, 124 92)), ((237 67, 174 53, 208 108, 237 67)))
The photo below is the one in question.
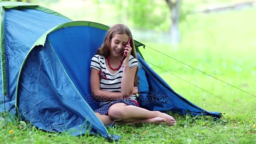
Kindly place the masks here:
POLYGON ((104 125, 118 120, 119 124, 167 122, 173 126, 176 120, 170 115, 139 107, 136 100, 138 70, 131 31, 124 24, 115 24, 91 59, 91 91, 94 99, 100 102, 100 108, 94 112, 104 125), (126 45, 129 37, 131 44, 126 45), (124 53, 126 57, 121 61, 124 53))

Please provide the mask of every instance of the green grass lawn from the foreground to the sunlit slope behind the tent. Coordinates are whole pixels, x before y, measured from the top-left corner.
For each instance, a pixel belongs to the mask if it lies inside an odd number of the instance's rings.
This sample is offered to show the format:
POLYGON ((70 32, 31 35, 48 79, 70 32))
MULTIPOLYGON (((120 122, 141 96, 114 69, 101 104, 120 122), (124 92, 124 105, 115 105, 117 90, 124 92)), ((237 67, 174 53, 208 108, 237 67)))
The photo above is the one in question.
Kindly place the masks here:
MULTIPOLYGON (((64 14, 64 13, 63 13, 64 14)), ((256 95, 255 9, 216 14, 197 14, 181 23, 182 41, 175 50, 169 44, 143 42, 192 67, 256 95)), ((223 117, 173 115, 178 123, 167 125, 115 125, 109 133, 122 136, 115 143, 256 143, 256 97, 221 83, 150 48, 141 53, 162 69, 187 80, 213 96, 173 75, 152 68, 181 96, 223 117)), ((109 143, 99 136, 48 133, 27 122, 0 121, 0 143, 109 143), (24 124, 25 123, 25 124, 24 124), (13 131, 11 131, 13 130, 13 131)))

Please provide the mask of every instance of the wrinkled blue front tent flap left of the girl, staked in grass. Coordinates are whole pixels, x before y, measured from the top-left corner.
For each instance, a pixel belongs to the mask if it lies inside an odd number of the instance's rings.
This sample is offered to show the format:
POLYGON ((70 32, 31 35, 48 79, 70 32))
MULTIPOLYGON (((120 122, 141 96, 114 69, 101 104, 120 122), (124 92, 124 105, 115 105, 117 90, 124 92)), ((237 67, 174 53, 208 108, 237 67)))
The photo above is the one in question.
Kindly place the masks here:
POLYGON ((67 77, 48 40, 29 54, 18 95, 20 114, 37 128, 73 135, 91 128, 91 133, 107 138, 106 128, 67 77))

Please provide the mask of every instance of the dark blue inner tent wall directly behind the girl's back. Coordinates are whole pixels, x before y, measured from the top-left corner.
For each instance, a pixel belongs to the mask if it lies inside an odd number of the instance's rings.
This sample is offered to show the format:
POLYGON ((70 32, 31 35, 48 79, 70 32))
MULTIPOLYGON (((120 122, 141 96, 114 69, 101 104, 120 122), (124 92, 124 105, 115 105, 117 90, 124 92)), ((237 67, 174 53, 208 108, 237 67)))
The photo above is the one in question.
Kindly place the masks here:
POLYGON ((66 27, 51 33, 48 37, 77 90, 91 108, 99 108, 93 101, 90 88, 90 61, 101 46, 106 31, 95 27, 66 27), (59 37, 63 40, 59 40, 59 37))

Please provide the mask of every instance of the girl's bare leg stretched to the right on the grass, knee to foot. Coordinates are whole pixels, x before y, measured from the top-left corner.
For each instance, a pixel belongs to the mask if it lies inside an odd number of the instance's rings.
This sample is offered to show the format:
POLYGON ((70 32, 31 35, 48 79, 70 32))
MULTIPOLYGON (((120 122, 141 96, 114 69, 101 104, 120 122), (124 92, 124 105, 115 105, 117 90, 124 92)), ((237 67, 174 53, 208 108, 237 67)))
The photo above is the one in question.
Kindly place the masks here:
POLYGON ((149 111, 141 107, 127 106, 124 103, 113 104, 109 108, 108 115, 112 120, 120 120, 123 123, 132 123, 136 120, 146 120, 151 118, 164 118, 171 126, 176 123, 176 120, 165 113, 159 111, 149 111))

